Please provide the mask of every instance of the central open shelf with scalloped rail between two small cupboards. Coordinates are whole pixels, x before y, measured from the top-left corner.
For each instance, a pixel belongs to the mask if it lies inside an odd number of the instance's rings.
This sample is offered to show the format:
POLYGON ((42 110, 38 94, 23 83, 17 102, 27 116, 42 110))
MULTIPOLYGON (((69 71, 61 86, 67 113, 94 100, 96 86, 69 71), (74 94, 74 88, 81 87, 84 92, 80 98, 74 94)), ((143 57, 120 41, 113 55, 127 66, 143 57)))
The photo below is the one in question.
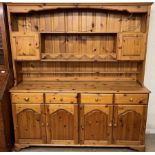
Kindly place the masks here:
POLYGON ((116 60, 116 33, 41 33, 41 60, 116 60))

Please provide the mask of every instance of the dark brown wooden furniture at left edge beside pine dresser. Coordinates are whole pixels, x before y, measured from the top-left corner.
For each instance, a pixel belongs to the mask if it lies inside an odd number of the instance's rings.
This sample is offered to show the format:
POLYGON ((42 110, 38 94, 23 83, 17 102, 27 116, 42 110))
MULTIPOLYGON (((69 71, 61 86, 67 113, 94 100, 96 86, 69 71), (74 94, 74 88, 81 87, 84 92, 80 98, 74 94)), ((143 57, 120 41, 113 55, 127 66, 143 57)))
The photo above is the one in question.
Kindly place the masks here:
POLYGON ((13 120, 9 89, 13 86, 6 6, 0 3, 0 151, 11 151, 13 120), (10 58, 10 59, 9 59, 10 58))

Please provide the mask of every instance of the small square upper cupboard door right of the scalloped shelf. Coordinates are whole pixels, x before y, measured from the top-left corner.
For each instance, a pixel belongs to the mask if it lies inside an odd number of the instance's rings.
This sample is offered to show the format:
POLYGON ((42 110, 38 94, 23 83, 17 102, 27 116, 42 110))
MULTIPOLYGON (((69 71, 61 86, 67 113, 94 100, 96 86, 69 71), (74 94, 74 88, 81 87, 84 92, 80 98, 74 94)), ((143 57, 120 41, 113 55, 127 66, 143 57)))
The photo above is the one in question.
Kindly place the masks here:
POLYGON ((118 60, 144 60, 146 47, 145 33, 118 34, 118 60))

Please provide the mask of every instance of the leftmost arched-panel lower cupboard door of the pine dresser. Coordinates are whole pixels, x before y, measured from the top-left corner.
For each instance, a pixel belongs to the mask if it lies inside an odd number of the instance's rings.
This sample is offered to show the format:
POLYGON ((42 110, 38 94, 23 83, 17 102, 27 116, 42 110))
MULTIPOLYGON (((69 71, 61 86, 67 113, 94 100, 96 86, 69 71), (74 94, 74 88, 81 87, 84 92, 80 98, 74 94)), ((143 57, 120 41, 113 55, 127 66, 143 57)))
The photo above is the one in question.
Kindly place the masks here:
POLYGON ((45 143, 44 106, 41 104, 13 104, 12 108, 15 143, 45 143))

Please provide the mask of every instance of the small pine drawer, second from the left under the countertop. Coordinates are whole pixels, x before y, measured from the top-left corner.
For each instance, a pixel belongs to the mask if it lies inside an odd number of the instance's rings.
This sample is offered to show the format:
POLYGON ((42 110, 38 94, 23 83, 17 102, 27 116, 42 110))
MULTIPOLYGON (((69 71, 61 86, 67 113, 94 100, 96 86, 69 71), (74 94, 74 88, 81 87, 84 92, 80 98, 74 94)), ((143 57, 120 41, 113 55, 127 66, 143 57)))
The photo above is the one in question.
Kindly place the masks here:
POLYGON ((46 93, 46 103, 77 103, 77 94, 75 93, 46 93))

